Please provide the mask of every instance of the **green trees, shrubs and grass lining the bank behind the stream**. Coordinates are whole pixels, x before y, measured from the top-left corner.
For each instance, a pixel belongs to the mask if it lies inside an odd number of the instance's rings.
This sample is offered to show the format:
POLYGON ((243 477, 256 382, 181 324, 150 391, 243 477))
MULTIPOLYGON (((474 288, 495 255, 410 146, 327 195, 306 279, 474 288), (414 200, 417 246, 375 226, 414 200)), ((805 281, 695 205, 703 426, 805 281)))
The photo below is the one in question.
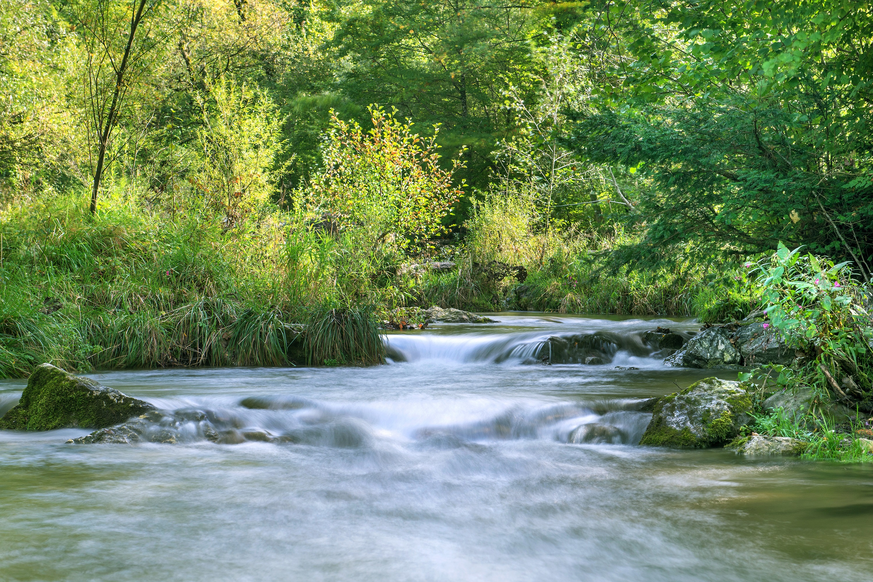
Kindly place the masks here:
POLYGON ((867 406, 867 328, 755 269, 849 261, 868 305, 870 5, 771 8, 5 2, 0 376, 374 363, 411 306, 770 305, 867 406))

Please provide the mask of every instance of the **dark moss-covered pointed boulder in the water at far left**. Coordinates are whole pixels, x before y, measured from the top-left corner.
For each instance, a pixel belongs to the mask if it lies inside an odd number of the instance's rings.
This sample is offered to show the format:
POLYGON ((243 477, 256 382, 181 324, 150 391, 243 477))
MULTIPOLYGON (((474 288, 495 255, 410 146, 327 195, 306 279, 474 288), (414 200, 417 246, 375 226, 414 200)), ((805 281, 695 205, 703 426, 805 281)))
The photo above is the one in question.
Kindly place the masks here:
POLYGON ((89 378, 42 364, 31 374, 18 405, 0 419, 0 429, 106 428, 154 408, 89 378))

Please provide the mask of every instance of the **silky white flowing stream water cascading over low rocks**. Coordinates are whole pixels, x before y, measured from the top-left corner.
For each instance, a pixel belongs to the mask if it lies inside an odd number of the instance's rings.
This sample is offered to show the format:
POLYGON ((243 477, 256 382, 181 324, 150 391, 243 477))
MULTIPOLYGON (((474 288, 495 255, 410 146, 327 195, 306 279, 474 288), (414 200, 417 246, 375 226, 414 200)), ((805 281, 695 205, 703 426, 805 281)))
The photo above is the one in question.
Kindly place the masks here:
POLYGON ((869 467, 636 445, 642 399, 711 375, 641 332, 693 322, 492 317, 386 366, 91 374, 176 443, 0 431, 0 580, 873 576, 869 467))

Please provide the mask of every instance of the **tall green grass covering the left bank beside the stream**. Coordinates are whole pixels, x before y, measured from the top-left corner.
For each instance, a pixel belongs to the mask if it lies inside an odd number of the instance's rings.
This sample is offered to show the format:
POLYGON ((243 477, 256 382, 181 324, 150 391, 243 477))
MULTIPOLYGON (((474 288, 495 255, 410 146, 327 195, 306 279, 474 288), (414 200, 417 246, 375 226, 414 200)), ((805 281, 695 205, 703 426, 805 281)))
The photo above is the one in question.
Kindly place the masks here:
POLYGON ((230 233, 203 216, 129 207, 91 217, 60 198, 3 211, 0 233, 0 377, 43 362, 88 371, 382 361, 373 309, 354 303, 368 266, 299 225, 230 233), (320 305, 333 305, 329 320, 320 305))

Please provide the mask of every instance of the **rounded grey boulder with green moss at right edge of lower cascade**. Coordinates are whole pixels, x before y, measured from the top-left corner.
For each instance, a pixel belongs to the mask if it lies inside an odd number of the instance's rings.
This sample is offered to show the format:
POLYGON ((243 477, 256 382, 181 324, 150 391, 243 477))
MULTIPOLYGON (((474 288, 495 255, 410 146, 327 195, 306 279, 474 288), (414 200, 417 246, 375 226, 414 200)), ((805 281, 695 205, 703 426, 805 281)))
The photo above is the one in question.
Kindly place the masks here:
POLYGON ((739 382, 705 378, 659 399, 642 445, 710 448, 731 441, 752 417, 752 397, 739 382))

